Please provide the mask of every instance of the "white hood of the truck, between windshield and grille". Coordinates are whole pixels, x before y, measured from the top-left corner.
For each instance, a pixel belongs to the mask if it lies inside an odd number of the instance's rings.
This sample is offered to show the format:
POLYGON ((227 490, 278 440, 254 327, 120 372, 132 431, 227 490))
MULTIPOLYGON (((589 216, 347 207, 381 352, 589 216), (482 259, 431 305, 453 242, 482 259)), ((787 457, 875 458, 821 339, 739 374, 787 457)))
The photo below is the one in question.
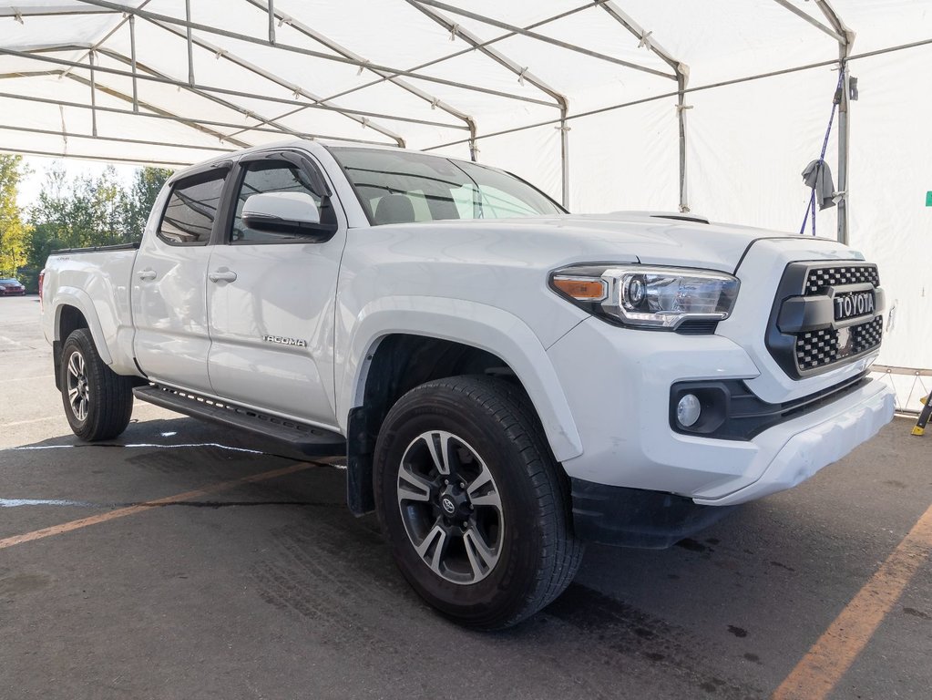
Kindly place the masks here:
MULTIPOLYGON (((530 265, 556 267, 576 262, 641 262, 734 272, 748 246, 760 239, 801 240, 799 236, 749 226, 708 224, 688 214, 610 213, 565 214, 517 219, 433 221, 395 224, 378 229, 406 228, 412 236, 421 226, 438 244, 470 241, 487 252, 512 257, 520 250, 530 265), (678 217, 678 218, 669 218, 678 217), (477 240, 478 239, 478 240, 477 240)), ((813 241, 812 238, 807 238, 813 241)), ((426 242, 426 240, 425 240, 426 242)), ((824 247, 828 240, 819 240, 824 247)))

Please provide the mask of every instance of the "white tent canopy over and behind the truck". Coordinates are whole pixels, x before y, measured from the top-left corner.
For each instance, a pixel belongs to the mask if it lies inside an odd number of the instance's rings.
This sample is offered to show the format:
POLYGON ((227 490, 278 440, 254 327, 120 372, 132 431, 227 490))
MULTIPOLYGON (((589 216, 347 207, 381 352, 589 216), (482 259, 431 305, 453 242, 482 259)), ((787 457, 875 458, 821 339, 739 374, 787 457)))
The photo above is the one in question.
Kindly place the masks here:
POLYGON ((177 166, 283 135, 397 144, 571 211, 791 231, 845 59, 860 94, 841 92, 843 194, 816 232, 881 265, 881 361, 932 367, 929 0, 20 0, 0 37, 4 151, 177 166))

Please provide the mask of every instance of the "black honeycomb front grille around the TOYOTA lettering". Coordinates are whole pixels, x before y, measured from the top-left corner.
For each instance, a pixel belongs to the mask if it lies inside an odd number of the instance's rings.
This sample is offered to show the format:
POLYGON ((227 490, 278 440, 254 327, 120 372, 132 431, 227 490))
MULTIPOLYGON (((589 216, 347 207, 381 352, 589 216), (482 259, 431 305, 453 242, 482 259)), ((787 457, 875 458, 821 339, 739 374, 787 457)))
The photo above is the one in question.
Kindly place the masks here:
POLYGON ((880 346, 884 333, 882 316, 871 316, 861 323, 845 325, 850 322, 835 321, 832 311, 835 299, 852 294, 849 290, 843 290, 843 287, 865 283, 874 287, 877 312, 883 311, 883 290, 879 288, 880 275, 875 265, 788 265, 774 300, 767 347, 790 377, 808 377, 828 371, 833 366, 851 362, 880 346), (793 305, 796 305, 793 308, 800 309, 801 297, 805 297, 806 305, 815 304, 814 309, 818 312, 806 315, 795 326, 789 323, 789 319, 795 318, 791 313, 788 316, 785 314, 783 322, 778 322, 781 310, 788 311, 793 305), (789 327, 785 323, 789 323, 789 327))

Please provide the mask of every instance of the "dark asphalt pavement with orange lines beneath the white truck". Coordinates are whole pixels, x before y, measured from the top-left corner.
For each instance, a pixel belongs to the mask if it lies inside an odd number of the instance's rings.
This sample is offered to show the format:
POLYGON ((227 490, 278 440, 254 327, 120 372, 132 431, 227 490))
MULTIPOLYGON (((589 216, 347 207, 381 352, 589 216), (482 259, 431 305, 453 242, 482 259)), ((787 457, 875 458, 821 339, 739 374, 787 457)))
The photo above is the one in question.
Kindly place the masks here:
POLYGON ((81 444, 38 319, 0 298, 0 698, 932 696, 911 419, 668 550, 590 546, 482 634, 407 587, 338 466, 139 402, 81 444))

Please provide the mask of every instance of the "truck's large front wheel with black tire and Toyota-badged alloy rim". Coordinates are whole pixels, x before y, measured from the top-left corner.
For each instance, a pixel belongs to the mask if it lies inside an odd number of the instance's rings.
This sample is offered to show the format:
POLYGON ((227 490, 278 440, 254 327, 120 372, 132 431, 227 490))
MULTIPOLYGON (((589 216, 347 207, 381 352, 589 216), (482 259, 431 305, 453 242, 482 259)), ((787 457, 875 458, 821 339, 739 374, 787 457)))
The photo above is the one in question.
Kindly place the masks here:
POLYGON ((515 625, 579 569, 583 543, 570 526, 567 476, 527 397, 503 380, 450 377, 404 394, 379 432, 374 481, 379 522, 404 578, 460 625, 515 625), (438 458, 443 441, 452 449, 438 458), (442 462, 448 474, 428 472, 442 462), (490 485, 473 490, 482 474, 490 485), (445 497, 453 507, 446 513, 445 497))

